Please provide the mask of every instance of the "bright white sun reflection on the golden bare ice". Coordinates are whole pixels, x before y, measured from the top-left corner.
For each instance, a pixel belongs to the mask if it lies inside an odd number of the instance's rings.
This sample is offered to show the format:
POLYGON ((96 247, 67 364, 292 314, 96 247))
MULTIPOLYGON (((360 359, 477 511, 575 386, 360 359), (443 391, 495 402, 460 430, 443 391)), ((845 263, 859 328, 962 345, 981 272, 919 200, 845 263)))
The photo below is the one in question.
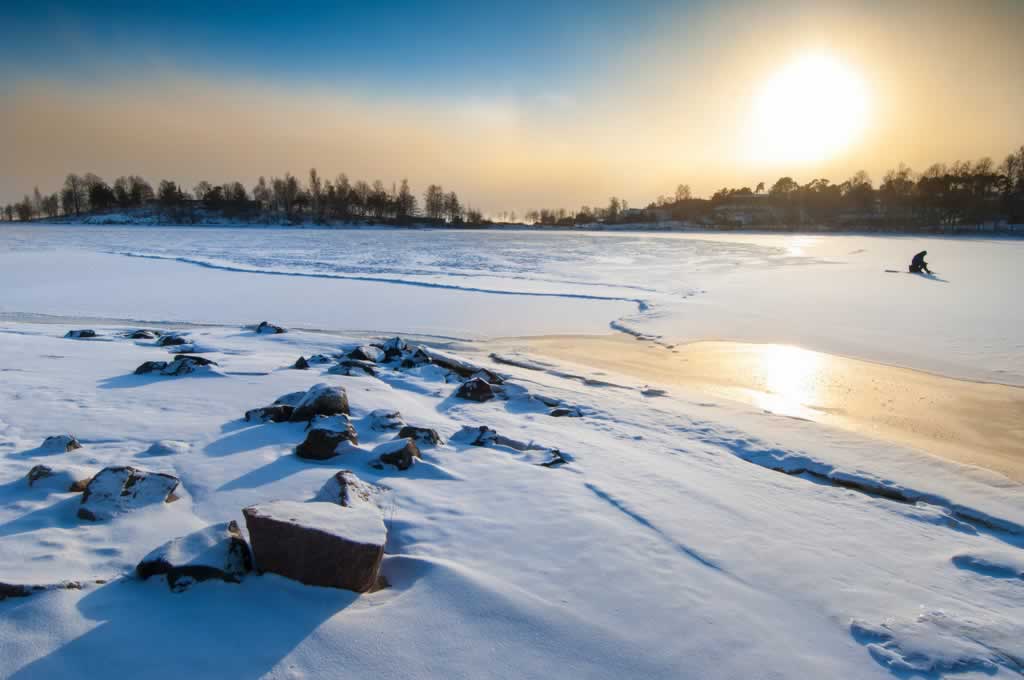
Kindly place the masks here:
POLYGON ((783 416, 814 419, 821 355, 790 345, 765 345, 758 357, 764 391, 758 406, 783 416))

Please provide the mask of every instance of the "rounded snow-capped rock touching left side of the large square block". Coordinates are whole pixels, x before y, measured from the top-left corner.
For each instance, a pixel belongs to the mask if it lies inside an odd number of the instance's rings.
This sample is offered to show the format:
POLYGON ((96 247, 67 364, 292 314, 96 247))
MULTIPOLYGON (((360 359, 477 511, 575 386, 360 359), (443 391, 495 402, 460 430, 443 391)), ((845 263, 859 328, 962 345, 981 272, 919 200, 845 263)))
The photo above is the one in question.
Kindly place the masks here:
POLYGON ((252 568, 249 544, 238 523, 230 521, 168 541, 143 557, 135 572, 143 581, 165 575, 168 588, 180 593, 212 579, 240 583, 252 568))

